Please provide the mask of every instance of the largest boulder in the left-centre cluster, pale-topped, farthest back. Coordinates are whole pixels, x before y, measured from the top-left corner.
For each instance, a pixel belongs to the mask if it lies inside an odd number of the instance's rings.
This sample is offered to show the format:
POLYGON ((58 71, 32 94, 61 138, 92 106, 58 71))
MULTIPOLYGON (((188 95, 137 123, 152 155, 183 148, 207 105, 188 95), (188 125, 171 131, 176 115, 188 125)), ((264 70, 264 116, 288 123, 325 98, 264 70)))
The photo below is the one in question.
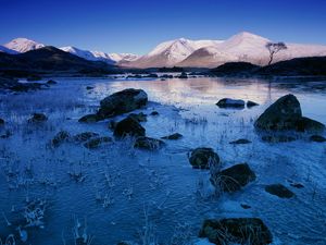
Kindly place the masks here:
POLYGON ((111 118, 146 106, 148 96, 142 89, 128 88, 101 100, 100 118, 111 118))

